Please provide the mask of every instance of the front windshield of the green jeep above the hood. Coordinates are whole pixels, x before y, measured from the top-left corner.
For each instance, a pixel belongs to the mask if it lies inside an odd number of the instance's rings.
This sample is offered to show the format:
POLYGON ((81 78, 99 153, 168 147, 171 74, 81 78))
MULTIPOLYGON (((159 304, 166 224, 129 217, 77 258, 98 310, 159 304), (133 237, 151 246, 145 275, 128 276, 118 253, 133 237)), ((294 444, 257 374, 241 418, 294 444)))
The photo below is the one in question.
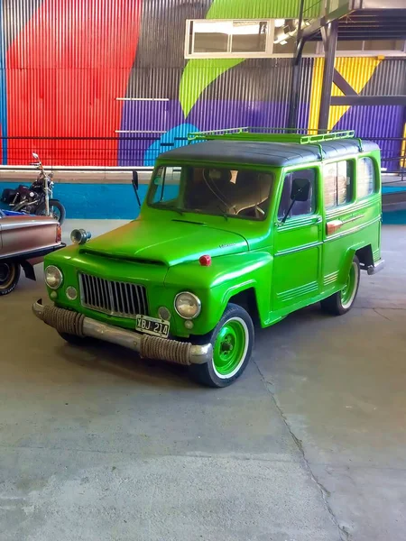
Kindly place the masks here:
POLYGON ((160 167, 148 193, 148 205, 263 220, 273 184, 271 172, 213 167, 160 167))

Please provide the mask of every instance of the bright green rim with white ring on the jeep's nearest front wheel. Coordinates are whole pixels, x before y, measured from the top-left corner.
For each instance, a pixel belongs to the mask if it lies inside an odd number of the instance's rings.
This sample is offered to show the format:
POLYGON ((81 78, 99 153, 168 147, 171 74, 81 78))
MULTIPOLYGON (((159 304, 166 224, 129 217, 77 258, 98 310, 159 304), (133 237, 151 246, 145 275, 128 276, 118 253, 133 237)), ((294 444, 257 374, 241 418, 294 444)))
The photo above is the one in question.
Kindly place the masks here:
POLYGON ((248 347, 248 328, 241 317, 226 321, 213 348, 213 364, 220 378, 230 378, 243 364, 248 347))

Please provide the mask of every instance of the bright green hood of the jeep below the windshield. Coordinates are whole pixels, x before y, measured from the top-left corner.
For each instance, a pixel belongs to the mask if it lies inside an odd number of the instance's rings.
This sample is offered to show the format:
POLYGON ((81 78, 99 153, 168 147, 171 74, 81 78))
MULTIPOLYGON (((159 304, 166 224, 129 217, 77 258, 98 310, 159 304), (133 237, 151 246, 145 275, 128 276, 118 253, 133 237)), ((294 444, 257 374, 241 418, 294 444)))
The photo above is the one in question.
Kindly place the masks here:
POLYGON ((247 252, 245 238, 224 229, 184 220, 134 220, 123 227, 89 241, 80 253, 92 253, 131 261, 166 266, 212 257, 247 252))

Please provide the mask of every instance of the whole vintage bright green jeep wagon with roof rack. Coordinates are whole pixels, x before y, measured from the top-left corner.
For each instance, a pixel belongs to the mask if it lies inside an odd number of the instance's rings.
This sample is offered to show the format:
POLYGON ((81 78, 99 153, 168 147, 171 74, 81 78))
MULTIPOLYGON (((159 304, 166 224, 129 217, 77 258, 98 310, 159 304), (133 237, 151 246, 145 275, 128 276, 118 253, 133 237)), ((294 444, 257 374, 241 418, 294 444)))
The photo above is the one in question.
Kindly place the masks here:
POLYGON ((141 215, 45 260, 68 342, 121 344, 225 387, 245 370, 254 324, 321 301, 345 314, 380 254, 380 151, 353 132, 245 129, 190 135, 161 154, 141 215))

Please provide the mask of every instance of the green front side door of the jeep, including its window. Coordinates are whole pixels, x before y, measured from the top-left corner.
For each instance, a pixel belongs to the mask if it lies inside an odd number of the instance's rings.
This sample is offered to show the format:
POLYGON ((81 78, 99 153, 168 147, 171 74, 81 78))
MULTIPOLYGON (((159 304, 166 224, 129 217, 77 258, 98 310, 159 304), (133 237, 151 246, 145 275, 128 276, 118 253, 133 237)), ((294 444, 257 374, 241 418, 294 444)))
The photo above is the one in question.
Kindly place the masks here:
POLYGON ((319 170, 288 172, 283 180, 274 229, 272 309, 289 313, 312 302, 319 293, 322 215, 319 170), (292 204, 295 179, 309 180, 309 197, 292 204), (290 210, 291 207, 291 210, 290 210))

